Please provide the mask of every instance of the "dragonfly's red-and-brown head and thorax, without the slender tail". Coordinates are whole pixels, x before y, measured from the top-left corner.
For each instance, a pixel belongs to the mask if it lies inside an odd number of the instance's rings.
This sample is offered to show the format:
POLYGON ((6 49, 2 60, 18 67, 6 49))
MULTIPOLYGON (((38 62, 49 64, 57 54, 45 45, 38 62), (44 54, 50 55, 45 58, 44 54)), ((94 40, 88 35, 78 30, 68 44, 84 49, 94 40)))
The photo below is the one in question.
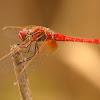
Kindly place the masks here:
POLYGON ((46 39, 53 39, 53 32, 45 27, 38 27, 35 30, 24 28, 19 32, 19 38, 22 41, 44 41, 46 39))

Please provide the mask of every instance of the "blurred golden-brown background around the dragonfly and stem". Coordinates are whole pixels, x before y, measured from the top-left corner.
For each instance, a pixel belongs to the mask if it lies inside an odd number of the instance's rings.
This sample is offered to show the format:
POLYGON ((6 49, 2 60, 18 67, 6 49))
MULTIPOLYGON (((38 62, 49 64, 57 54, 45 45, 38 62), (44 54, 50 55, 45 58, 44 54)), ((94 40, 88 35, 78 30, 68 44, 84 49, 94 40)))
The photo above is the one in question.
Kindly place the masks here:
MULTIPOLYGON (((0 0, 0 13, 0 29, 39 25, 67 36, 100 39, 99 0, 0 0)), ((0 58, 21 42, 13 31, 0 31, 0 58)), ((33 100, 100 100, 100 45, 57 43, 58 50, 28 76, 33 100)), ((20 100, 15 74, 7 71, 9 60, 4 62, 0 99, 20 100)))

